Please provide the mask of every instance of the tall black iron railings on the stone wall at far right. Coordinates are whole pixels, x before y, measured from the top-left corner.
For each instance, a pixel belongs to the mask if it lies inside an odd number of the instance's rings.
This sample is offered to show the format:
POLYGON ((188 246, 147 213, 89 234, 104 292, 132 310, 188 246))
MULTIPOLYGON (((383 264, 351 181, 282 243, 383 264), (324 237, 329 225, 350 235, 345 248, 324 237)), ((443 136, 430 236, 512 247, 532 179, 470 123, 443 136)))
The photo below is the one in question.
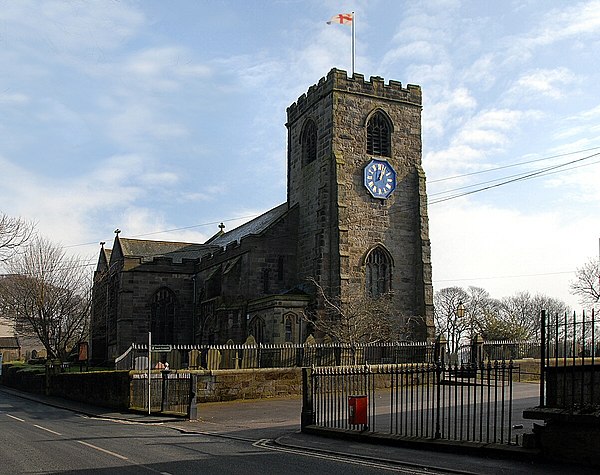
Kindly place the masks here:
POLYGON ((540 406, 600 407, 600 322, 592 310, 581 316, 542 312, 540 406))

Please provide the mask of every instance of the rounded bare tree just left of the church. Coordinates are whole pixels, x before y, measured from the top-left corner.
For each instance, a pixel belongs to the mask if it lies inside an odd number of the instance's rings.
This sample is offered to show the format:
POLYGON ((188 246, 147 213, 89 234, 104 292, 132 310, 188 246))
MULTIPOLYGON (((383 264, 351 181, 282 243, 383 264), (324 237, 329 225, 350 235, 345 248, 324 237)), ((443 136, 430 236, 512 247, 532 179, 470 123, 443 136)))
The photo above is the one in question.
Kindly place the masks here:
POLYGON ((64 359, 87 332, 91 273, 76 257, 43 238, 34 238, 8 263, 0 296, 10 315, 37 336, 48 357, 64 359))

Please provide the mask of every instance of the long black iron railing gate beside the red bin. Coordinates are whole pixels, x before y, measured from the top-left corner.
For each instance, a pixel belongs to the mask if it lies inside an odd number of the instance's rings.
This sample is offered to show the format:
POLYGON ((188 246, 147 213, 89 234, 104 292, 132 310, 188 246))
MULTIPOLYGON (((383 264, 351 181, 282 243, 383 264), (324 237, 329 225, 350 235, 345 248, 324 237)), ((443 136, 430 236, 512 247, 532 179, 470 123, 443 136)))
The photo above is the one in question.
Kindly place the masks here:
POLYGON ((302 424, 514 445, 513 364, 305 368, 302 424), (358 414, 365 401, 364 414, 358 414), (363 419, 361 419, 363 417, 363 419))

